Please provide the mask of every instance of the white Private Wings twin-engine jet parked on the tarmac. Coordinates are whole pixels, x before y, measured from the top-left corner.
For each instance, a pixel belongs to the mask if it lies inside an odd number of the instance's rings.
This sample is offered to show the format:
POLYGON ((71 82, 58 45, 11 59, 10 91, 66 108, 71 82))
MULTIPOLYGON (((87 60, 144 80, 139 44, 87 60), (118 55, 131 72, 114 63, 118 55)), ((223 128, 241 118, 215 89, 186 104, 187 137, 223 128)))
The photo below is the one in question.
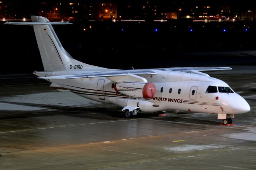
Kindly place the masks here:
POLYGON ((33 26, 44 71, 34 71, 50 87, 70 91, 87 99, 122 107, 131 118, 138 111, 156 114, 164 111, 218 114, 224 125, 236 114, 250 111, 246 100, 220 79, 202 71, 230 67, 171 67, 155 69, 108 69, 73 59, 60 43, 50 22, 31 16, 32 22, 6 22, 33 26))

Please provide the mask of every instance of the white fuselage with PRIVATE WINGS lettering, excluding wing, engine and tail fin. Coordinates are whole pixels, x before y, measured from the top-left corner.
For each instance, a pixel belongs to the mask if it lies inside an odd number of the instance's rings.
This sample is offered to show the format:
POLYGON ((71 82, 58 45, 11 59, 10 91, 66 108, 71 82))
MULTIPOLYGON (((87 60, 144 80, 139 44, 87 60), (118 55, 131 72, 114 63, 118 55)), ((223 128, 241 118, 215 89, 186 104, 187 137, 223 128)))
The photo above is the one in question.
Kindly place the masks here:
MULTIPOLYGON (((156 93, 149 99, 134 98, 114 90, 114 83, 106 77, 50 79, 52 87, 67 89, 82 97, 103 103, 126 107, 129 103, 138 105, 141 111, 188 111, 217 114, 239 114, 250 111, 248 103, 237 93, 206 93, 209 86, 229 87, 224 81, 206 75, 178 71, 156 70, 157 75, 146 75, 154 83, 156 93)), ((40 77, 52 76, 53 72, 37 72, 40 77)), ((60 73, 55 72, 55 75, 60 73)), ((65 72, 61 72, 65 74, 65 72)))

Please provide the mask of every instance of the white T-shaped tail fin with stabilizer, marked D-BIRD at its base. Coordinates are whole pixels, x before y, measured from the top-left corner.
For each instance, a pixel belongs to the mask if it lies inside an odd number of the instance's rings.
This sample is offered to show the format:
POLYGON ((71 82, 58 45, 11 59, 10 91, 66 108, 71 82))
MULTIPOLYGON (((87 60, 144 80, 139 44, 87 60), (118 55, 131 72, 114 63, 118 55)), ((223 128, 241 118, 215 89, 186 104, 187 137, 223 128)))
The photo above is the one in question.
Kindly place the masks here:
POLYGON ((72 24, 69 22, 50 22, 42 16, 31 16, 32 22, 6 22, 12 25, 33 26, 40 51, 44 71, 102 70, 104 68, 88 65, 73 59, 62 47, 52 24, 72 24))

